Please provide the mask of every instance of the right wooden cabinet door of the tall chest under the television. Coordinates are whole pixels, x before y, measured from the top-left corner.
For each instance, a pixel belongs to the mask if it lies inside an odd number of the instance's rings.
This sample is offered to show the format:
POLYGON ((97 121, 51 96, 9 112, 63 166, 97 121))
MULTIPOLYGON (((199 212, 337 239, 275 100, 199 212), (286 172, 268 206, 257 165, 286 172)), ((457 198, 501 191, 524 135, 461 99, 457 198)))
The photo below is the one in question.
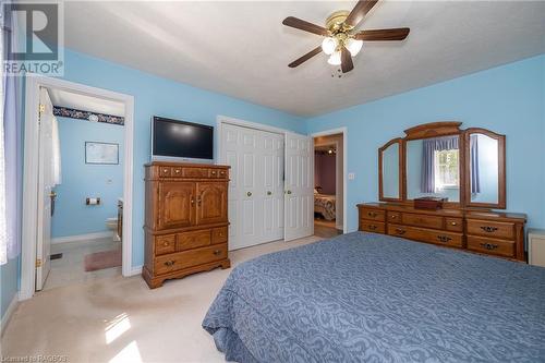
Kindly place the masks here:
POLYGON ((197 225, 227 221, 227 183, 197 183, 197 225))

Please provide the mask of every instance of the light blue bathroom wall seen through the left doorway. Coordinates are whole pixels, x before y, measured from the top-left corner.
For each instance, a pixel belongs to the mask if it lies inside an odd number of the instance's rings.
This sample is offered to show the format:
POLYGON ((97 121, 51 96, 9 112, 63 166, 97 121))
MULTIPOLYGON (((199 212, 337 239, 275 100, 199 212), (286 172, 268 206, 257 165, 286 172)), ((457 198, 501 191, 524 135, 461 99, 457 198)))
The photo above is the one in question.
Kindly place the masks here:
POLYGON ((57 120, 62 183, 56 186, 52 237, 107 231, 105 221, 117 216, 118 197, 123 196, 124 126, 69 118, 57 120), (119 144, 119 165, 85 164, 85 142, 119 144), (87 196, 100 197, 101 204, 85 205, 87 196))

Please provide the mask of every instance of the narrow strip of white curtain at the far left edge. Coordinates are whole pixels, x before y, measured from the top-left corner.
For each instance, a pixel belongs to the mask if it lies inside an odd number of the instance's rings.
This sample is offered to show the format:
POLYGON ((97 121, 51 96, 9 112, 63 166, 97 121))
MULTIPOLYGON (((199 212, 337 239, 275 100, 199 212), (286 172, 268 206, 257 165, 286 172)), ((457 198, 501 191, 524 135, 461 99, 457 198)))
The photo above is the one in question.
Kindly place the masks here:
MULTIPOLYGON (((3 55, 3 31, 0 38, 0 55, 3 55)), ((8 262, 8 223, 5 216, 5 155, 3 137, 3 64, 2 66, 0 66, 0 265, 3 265, 8 262)))

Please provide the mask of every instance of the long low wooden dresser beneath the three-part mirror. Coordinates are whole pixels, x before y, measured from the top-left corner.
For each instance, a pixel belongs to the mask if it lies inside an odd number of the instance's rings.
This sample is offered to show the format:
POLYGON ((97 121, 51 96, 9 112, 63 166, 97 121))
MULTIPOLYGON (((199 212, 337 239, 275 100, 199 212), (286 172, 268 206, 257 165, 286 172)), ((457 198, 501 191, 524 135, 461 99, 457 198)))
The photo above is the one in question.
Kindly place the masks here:
POLYGON ((393 203, 358 205, 360 230, 525 261, 523 214, 416 209, 393 203))

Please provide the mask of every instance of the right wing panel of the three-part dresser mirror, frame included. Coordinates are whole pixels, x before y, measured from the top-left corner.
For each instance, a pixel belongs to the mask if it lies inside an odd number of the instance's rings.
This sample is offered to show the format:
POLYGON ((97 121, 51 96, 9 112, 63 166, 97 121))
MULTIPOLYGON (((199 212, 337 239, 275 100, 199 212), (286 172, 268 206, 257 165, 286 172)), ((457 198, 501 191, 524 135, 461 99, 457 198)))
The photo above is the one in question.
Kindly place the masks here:
POLYGON ((505 136, 483 129, 465 131, 468 206, 505 208, 505 136))

